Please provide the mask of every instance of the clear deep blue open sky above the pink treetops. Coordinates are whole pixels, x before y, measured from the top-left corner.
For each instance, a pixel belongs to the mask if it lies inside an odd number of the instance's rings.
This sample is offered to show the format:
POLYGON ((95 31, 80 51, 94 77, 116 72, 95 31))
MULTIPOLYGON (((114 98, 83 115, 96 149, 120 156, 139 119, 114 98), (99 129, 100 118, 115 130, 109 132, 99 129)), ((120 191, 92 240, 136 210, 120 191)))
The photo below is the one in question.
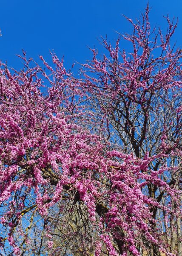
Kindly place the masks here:
MULTIPOLYGON (((150 0, 151 23, 166 28, 162 15, 179 17, 174 35, 182 45, 182 0, 150 0)), ((65 67, 91 58, 88 47, 100 49, 97 38, 108 35, 117 39, 115 31, 131 32, 130 24, 122 14, 139 17, 147 0, 4 0, 0 3, 0 60, 8 66, 20 68, 15 56, 24 49, 27 55, 50 59, 49 50, 61 58, 65 67)), ((125 48, 125 45, 123 45, 125 48)))

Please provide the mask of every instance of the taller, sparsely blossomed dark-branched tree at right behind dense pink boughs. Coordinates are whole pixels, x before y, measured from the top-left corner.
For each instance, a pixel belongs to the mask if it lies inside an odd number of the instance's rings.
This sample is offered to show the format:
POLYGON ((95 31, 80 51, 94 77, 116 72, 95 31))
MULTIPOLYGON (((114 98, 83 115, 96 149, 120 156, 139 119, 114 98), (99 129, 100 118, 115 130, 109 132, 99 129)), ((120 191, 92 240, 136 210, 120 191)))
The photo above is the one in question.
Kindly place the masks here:
MULTIPOLYGON (((120 51, 119 39, 115 48, 103 39, 108 57, 98 59, 93 49, 92 61, 83 65, 82 86, 89 93, 88 108, 97 113, 97 123, 105 128, 108 140, 126 154, 132 152, 140 159, 146 154, 160 155, 152 161, 151 170, 157 172, 165 163, 168 169, 160 177, 171 188, 179 188, 180 158, 172 152, 174 148, 181 150, 182 50, 170 46, 177 22, 166 17, 168 30, 163 35, 160 28, 151 29, 148 14, 149 6, 137 23, 126 17, 134 32, 122 38, 132 44, 131 53, 120 51), (171 172, 171 168, 176 171, 171 172)), ((160 204, 169 200, 165 191, 153 182, 148 184, 145 193, 160 204)), ((172 208, 175 210, 174 204, 172 208)), ((177 243, 178 255, 181 255, 179 218, 167 217, 157 206, 151 208, 151 212, 158 223, 156 228, 168 240, 169 250, 174 253, 177 243)), ((157 255, 155 249, 153 253, 157 255)))

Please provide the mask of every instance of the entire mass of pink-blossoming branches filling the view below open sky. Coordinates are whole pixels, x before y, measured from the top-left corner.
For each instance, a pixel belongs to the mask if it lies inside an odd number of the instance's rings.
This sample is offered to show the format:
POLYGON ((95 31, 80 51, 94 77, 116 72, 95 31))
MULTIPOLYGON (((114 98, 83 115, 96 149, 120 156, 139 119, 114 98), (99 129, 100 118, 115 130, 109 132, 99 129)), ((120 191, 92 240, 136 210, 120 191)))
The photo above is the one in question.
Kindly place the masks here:
POLYGON ((25 53, 20 72, 1 67, 3 255, 180 255, 181 51, 167 20, 151 41, 147 7, 129 20, 134 53, 104 41, 110 58, 94 50, 85 79, 54 54, 54 67, 25 53))

